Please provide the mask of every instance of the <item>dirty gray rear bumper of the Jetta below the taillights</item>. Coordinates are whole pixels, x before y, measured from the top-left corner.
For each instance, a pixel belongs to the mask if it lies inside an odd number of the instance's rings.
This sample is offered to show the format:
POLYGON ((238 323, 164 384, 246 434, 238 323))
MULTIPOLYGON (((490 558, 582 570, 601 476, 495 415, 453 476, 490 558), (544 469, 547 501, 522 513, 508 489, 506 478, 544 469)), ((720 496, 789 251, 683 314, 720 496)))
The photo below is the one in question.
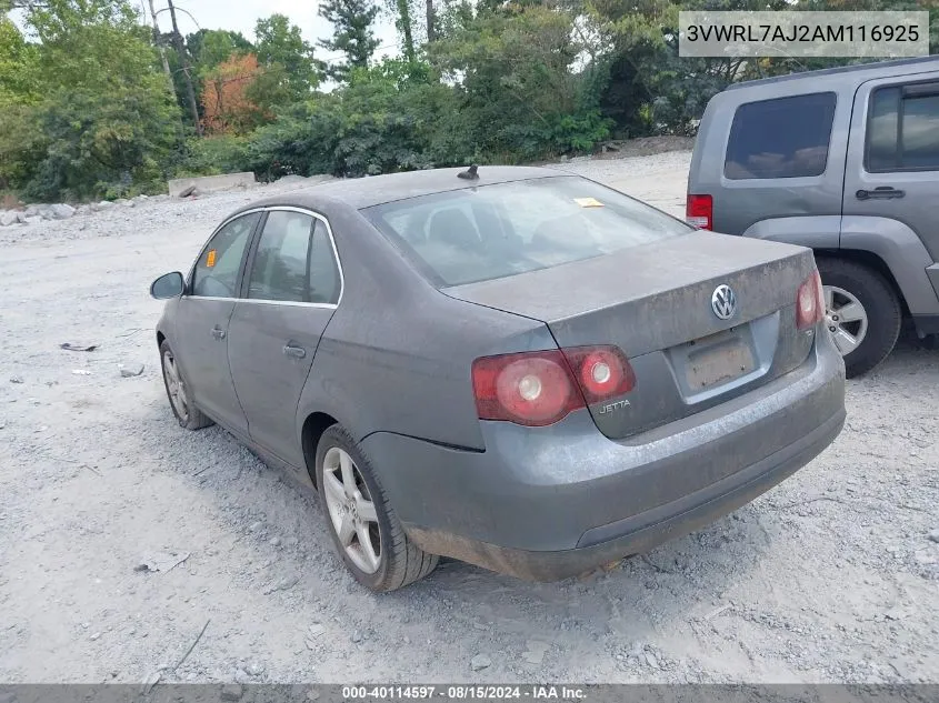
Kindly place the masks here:
POLYGON ((486 452, 390 433, 362 449, 422 549, 556 580, 736 510, 811 461, 843 422, 843 362, 820 334, 799 370, 629 443, 582 411, 535 431, 482 423, 486 452))

